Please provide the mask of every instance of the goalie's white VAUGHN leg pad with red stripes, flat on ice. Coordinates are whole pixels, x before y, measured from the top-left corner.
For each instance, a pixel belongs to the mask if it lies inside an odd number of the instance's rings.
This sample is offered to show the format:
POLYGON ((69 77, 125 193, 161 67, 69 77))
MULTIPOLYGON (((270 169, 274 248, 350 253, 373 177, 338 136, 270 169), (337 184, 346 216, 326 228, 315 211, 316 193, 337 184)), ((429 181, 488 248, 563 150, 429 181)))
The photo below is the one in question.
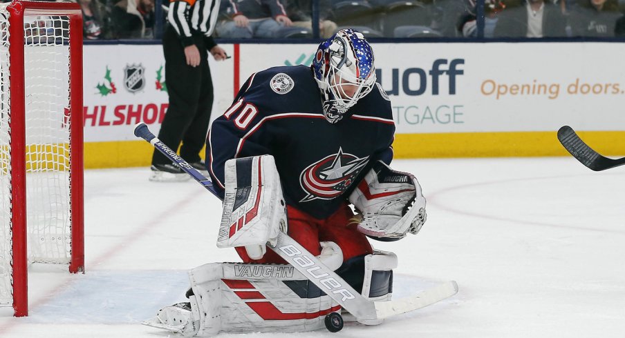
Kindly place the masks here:
MULTIPOLYGON (((343 262, 341 248, 333 242, 321 243, 318 258, 332 270, 343 262)), ((290 265, 205 264, 189 272, 189 281, 194 293, 190 306, 166 306, 143 324, 185 336, 301 332, 324 328, 325 316, 340 310, 290 265)))

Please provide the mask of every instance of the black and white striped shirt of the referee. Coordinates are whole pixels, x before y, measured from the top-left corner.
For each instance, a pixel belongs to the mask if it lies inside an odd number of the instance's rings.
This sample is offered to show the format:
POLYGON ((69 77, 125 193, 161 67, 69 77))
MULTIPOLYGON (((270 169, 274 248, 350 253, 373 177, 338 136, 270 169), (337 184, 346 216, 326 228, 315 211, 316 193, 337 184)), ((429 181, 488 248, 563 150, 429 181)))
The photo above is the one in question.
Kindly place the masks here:
POLYGON ((220 0, 174 0, 169 3, 167 20, 174 27, 183 45, 193 44, 192 31, 209 37, 217 22, 220 0))

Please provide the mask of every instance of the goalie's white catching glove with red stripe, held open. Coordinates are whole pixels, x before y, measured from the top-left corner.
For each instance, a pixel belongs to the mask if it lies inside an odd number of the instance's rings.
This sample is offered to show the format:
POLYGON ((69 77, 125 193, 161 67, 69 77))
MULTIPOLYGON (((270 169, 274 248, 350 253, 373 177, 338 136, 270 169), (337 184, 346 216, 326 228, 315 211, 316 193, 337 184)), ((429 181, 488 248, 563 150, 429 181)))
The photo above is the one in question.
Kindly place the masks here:
POLYGON ((377 161, 349 196, 358 231, 382 241, 415 234, 426 220, 425 197, 416 177, 377 161), (359 219, 360 218, 360 219, 359 219))

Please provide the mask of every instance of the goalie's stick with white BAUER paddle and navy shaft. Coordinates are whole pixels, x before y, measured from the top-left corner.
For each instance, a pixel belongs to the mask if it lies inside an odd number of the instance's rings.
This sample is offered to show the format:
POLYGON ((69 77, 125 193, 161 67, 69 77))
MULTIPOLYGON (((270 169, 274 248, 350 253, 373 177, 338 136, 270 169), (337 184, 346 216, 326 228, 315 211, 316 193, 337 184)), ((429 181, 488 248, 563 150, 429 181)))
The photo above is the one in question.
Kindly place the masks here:
MULTIPOLYGON (((176 155, 176 152, 171 150, 171 148, 165 146, 150 132, 145 123, 138 123, 135 126, 134 134, 148 141, 171 161, 178 163, 178 166, 183 171, 218 196, 212 182, 198 170, 189 166, 189 163, 176 155)), ((287 261, 288 264, 294 266, 305 275, 313 284, 324 290, 328 296, 334 299, 342 308, 348 310, 362 324, 377 324, 379 319, 424 308, 456 295, 458 292, 456 281, 447 281, 411 297, 391 301, 371 301, 360 295, 344 279, 339 277, 336 272, 330 270, 315 255, 308 252, 295 239, 292 239, 285 233, 279 233, 278 240, 274 246, 270 245, 270 243, 267 246, 287 261)))

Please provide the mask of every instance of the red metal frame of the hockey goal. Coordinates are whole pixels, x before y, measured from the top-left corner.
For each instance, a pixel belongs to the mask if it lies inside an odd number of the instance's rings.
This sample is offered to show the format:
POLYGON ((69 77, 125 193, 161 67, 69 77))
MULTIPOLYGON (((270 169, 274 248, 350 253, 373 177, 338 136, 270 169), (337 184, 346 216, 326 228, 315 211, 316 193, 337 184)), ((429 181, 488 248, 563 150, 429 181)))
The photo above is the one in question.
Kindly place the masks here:
POLYGON ((71 260, 70 272, 84 272, 84 180, 82 119, 82 12, 77 3, 13 1, 9 17, 10 157, 12 208, 12 300, 16 317, 28 315, 28 250, 26 217, 26 42, 24 17, 68 17, 69 112, 71 115, 71 260))

